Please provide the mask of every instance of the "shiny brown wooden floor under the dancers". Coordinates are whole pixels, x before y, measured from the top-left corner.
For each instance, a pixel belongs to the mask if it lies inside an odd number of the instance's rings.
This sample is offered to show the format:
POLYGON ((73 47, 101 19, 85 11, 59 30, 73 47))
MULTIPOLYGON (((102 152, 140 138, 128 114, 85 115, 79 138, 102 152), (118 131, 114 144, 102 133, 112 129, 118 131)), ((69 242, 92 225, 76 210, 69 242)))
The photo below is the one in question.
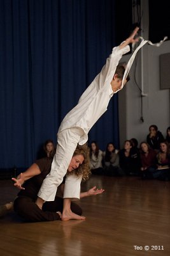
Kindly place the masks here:
MULTIPOLYGON (((95 175, 82 191, 94 185, 106 193, 81 199, 85 221, 24 223, 15 212, 1 218, 1 255, 170 255, 170 182, 95 175)), ((16 194, 10 180, 0 180, 0 204, 16 194)))

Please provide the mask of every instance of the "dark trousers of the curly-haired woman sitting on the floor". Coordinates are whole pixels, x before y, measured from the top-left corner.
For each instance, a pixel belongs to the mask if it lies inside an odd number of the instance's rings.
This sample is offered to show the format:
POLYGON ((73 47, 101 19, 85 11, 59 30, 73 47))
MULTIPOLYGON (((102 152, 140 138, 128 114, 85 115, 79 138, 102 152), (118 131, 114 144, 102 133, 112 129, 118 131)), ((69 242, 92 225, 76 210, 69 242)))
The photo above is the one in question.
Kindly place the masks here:
MULTIPOLYGON (((14 211, 27 221, 53 221, 60 220, 57 211, 63 210, 63 199, 55 197, 55 201, 45 202, 43 209, 39 209, 38 205, 27 196, 18 196, 14 201, 14 211)), ((75 214, 81 215, 82 210, 79 205, 71 202, 71 211, 75 214)))

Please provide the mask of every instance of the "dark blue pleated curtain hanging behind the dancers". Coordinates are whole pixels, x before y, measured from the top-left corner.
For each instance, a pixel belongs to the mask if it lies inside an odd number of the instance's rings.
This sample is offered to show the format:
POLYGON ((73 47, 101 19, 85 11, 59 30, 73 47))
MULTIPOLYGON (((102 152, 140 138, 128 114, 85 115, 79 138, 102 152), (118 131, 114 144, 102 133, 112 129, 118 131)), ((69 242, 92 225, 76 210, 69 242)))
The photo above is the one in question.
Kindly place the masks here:
MULTIPOLYGON (((0 168, 27 167, 115 46, 114 0, 0 0, 0 168)), ((118 147, 117 95, 89 133, 118 147)))

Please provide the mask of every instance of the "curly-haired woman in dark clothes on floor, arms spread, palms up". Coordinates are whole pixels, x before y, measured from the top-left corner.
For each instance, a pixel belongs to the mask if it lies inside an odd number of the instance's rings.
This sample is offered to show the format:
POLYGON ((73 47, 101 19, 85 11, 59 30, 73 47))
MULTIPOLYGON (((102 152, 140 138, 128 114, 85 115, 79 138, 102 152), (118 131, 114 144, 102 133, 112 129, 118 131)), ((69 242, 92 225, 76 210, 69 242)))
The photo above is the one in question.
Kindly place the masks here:
MULTIPOLYGON (((39 209, 38 205, 35 204, 39 188, 41 187, 46 175, 50 173, 51 164, 52 158, 45 157, 43 159, 38 159, 24 173, 20 173, 17 179, 12 178, 15 182, 14 186, 21 189, 13 204, 14 211, 25 220, 32 222, 53 221, 60 219, 70 220, 72 218, 76 220, 85 219, 85 217, 81 216, 82 210, 79 205, 75 204, 74 202, 70 202, 70 204, 67 202, 73 197, 73 195, 68 194, 68 188, 66 190, 64 189, 65 179, 60 185, 60 189, 58 189, 58 194, 55 196, 54 201, 45 202, 42 209, 39 209), (23 184, 24 187, 22 187, 23 184), (63 194, 63 197, 66 197, 64 200, 61 198, 61 194, 63 194), (65 212, 63 212, 63 204, 66 208, 65 212)), ((67 169, 66 182, 68 184, 66 187, 69 187, 69 177, 71 177, 71 175, 75 175, 77 178, 75 180, 77 180, 77 183, 80 184, 80 180, 89 179, 89 174, 89 148, 87 145, 78 145, 67 169)), ((79 189, 76 188, 76 183, 74 185, 75 195, 79 189)), ((93 187, 87 192, 80 193, 79 196, 82 198, 85 196, 97 195, 103 193, 103 191, 103 189, 96 189, 96 187, 93 187)), ((8 206, 11 207, 12 205, 3 205, 3 207, 6 207, 6 209, 8 209, 8 206)))

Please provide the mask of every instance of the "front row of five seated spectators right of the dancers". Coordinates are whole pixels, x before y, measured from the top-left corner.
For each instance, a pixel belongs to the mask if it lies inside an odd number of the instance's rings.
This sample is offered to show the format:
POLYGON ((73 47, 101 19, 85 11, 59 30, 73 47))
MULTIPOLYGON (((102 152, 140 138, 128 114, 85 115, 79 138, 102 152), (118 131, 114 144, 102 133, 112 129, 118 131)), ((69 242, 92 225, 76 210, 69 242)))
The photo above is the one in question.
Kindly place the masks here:
POLYGON ((105 152, 99 150, 96 141, 90 145, 90 168, 94 174, 108 176, 136 175, 142 179, 170 180, 170 150, 167 141, 160 142, 154 150, 143 141, 138 148, 134 138, 126 140, 124 148, 117 150, 108 143, 105 152))

